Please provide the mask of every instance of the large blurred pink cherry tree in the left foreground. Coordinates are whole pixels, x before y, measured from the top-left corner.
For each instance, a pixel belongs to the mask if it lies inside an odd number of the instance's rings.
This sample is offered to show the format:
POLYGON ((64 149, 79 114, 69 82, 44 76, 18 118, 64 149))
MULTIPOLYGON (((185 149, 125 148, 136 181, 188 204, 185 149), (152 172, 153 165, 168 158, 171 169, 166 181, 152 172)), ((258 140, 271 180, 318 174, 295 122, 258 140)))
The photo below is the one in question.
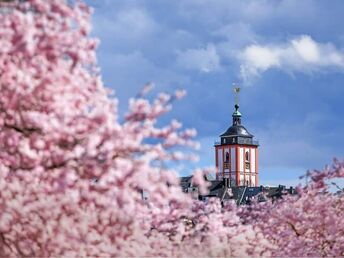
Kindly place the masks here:
POLYGON ((86 5, 14 1, 0 15, 1 255, 183 253, 192 200, 163 163, 192 158, 174 147, 196 147, 195 131, 156 122, 184 93, 149 102, 146 87, 120 124, 86 5))

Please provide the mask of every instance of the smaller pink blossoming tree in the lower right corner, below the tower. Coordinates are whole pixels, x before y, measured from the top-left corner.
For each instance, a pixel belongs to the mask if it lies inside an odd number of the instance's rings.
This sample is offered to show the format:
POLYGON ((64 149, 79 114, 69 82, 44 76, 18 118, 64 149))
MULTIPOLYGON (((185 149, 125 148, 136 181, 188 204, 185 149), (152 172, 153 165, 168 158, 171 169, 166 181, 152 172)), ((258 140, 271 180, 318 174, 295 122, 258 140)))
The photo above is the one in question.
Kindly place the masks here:
POLYGON ((344 163, 335 160, 322 171, 310 171, 310 183, 297 195, 244 210, 242 218, 272 243, 272 256, 344 256, 344 192, 330 191, 330 182, 344 177, 344 163))

